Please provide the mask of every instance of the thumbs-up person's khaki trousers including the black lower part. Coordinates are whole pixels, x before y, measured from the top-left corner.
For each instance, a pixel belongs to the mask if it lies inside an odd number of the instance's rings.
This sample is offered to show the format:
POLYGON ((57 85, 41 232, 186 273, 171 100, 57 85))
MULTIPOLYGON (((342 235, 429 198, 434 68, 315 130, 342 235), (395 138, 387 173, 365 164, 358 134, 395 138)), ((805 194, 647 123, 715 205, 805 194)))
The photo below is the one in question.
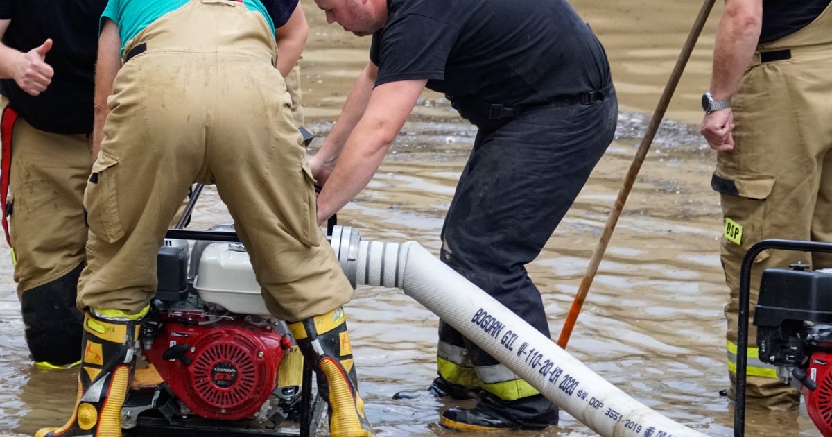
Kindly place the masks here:
POLYGON ((5 211, 26 343, 39 366, 72 365, 81 355, 75 303, 86 256, 82 199, 92 142, 87 135, 41 131, 11 109, 3 111, 2 141, 3 159, 11 158, 2 163, 5 211))

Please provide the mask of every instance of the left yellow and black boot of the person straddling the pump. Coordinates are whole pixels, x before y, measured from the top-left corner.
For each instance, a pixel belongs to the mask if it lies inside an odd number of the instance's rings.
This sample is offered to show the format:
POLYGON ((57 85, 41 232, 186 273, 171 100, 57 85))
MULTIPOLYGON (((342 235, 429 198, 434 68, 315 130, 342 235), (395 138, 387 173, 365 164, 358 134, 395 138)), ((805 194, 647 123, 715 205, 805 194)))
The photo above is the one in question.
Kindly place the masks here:
POLYGON ((61 428, 35 437, 121 436, 121 405, 130 386, 141 317, 118 310, 87 311, 82 335, 78 395, 72 417, 61 428))

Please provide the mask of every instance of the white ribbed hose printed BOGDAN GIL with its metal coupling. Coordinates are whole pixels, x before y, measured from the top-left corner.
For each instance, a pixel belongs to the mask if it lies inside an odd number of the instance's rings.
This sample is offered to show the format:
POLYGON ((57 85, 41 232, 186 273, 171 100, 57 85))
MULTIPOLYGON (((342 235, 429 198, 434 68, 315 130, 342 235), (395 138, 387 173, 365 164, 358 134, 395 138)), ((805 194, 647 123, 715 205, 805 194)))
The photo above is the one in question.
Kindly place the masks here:
POLYGON ((603 380, 417 242, 360 241, 336 226, 332 246, 354 286, 404 290, 599 435, 704 436, 603 380))

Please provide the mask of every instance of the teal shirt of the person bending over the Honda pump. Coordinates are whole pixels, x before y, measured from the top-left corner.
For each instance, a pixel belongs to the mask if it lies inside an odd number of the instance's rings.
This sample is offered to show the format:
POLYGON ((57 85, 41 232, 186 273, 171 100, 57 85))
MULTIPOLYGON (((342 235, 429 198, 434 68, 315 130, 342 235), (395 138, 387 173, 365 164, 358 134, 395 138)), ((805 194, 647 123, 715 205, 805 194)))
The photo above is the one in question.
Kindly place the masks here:
MULTIPOLYGON (((104 26, 104 18, 109 18, 118 25, 118 33, 121 37, 121 53, 124 53, 124 45, 130 41, 136 33, 141 32, 151 22, 167 13, 176 11, 189 0, 110 0, 107 2, 102 14, 101 26, 104 26)), ((272 33, 275 32, 275 23, 272 22, 269 13, 266 12, 260 0, 243 0, 243 4, 250 11, 260 12, 269 23, 272 33)))

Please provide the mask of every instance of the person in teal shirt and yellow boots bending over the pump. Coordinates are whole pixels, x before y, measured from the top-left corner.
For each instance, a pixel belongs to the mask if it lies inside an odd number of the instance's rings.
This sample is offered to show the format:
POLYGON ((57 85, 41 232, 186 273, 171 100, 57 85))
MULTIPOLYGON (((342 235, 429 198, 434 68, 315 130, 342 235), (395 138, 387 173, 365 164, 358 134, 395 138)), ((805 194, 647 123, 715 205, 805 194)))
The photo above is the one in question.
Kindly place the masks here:
POLYGON ((193 181, 215 183, 228 206, 267 307, 290 322, 318 373, 331 435, 374 435, 341 309, 352 287, 317 226, 314 181, 263 5, 107 5, 96 77, 100 151, 84 202, 90 234, 78 292, 86 312, 78 397, 67 425, 38 437, 121 435, 136 336, 156 292, 156 252, 180 206, 176 193, 193 181))

